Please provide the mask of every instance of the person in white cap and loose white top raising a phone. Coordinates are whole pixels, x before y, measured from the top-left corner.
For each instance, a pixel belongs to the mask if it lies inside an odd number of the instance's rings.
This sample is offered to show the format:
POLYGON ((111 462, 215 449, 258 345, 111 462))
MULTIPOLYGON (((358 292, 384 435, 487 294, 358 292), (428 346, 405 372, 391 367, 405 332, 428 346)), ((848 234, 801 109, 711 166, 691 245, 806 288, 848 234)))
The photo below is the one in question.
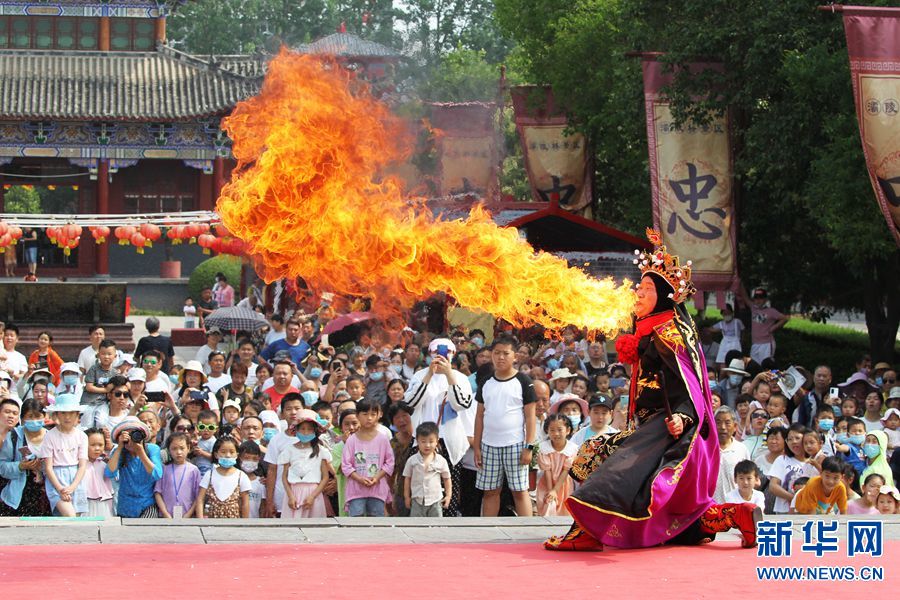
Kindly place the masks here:
MULTIPOLYGON (((468 453, 472 462, 472 436, 475 435, 475 407, 469 378, 450 365, 456 346, 447 338, 436 338, 428 345, 431 364, 413 375, 404 400, 413 409, 412 428, 432 422, 438 426, 438 451, 450 465, 453 496, 446 516, 460 516, 460 474, 468 453)), ((473 463, 474 465, 474 463, 473 463)))

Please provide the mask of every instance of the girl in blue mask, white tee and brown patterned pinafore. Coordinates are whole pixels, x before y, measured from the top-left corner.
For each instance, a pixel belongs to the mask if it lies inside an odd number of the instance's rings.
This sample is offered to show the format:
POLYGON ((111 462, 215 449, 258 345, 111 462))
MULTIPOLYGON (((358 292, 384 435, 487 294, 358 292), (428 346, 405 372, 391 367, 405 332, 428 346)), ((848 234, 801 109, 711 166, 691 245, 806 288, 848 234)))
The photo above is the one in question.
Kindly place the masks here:
MULTIPOLYGON (((215 415, 213 415, 215 417, 215 415)), ((250 516, 250 478, 237 465, 237 442, 231 437, 216 440, 212 449, 215 468, 200 480, 197 517, 204 519, 246 519, 250 516)))

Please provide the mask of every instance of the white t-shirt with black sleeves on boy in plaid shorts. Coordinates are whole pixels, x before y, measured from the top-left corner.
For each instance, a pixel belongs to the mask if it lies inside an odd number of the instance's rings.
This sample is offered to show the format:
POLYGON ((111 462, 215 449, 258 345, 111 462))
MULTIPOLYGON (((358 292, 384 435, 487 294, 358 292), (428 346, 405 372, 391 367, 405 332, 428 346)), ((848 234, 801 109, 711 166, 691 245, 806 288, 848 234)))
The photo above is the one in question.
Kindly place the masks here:
POLYGON ((478 388, 475 400, 484 404, 484 445, 503 448, 525 441, 524 407, 536 401, 528 375, 516 372, 504 380, 491 376, 478 388))

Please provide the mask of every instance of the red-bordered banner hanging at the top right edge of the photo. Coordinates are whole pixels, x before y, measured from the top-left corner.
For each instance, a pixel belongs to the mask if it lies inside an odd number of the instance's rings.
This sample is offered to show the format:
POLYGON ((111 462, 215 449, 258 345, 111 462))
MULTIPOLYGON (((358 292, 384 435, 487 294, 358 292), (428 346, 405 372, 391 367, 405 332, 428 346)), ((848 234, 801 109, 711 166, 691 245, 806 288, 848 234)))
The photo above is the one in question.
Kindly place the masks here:
POLYGON ((866 168, 900 244, 900 9, 845 6, 843 12, 866 168))

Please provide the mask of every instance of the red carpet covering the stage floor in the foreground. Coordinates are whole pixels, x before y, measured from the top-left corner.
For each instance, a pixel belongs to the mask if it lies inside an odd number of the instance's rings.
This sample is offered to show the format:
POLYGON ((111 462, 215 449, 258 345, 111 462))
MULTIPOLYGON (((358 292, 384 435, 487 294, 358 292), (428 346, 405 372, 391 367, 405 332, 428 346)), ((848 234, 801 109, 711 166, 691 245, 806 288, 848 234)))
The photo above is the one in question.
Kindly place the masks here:
MULTIPOLYGON (((843 546, 842 546, 843 548, 843 546)), ((823 598, 900 584, 900 541, 880 558, 757 558, 732 542, 551 553, 535 544, 72 545, 0 550, 6 598, 750 598, 808 590, 823 598), (760 582, 760 566, 883 567, 883 582, 760 582), (176 596, 177 594, 177 596, 176 596), (563 595, 564 594, 564 595, 563 595)))

